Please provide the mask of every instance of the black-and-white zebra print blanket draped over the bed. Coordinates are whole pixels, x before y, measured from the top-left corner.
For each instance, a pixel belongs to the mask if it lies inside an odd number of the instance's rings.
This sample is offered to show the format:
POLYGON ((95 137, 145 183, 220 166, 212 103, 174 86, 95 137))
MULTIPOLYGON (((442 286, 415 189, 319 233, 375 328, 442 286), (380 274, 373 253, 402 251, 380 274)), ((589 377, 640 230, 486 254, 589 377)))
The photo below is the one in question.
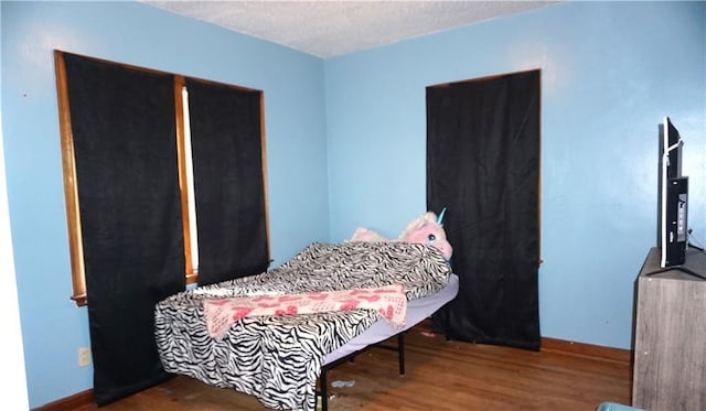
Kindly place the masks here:
POLYGON ((400 283, 407 300, 430 295, 451 272, 439 250, 408 242, 314 242, 261 274, 186 290, 156 306, 156 339, 168 372, 255 396, 278 410, 313 411, 324 357, 379 314, 351 310, 244 317, 217 340, 208 335, 205 299, 281 295, 400 283))

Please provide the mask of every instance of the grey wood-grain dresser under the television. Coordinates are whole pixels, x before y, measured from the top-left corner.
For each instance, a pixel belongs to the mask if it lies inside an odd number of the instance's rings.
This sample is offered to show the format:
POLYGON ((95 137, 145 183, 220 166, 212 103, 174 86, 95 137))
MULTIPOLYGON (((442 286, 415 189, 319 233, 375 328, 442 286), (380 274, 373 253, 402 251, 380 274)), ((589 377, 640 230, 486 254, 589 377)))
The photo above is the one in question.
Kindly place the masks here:
POLYGON ((632 405, 706 410, 706 255, 660 269, 652 248, 637 280, 632 405))

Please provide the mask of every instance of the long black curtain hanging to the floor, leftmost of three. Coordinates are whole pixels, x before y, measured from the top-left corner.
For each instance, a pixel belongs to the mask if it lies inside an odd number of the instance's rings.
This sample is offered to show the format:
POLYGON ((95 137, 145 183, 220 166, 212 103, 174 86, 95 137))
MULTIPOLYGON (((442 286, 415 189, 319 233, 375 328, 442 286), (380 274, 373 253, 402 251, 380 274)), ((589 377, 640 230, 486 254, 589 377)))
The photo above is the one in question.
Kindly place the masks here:
POLYGON ((154 304, 184 290, 173 79, 64 54, 88 295, 94 396, 170 378, 154 304))

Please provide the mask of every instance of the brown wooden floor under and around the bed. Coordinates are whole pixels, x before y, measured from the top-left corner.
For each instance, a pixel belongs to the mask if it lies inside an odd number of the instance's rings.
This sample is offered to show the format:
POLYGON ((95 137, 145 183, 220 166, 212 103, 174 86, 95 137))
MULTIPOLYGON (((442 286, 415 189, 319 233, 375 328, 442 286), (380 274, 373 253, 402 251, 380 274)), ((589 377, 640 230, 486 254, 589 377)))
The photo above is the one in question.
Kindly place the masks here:
MULTIPOLYGON (((592 411, 630 404, 630 364, 556 351, 447 342, 421 323, 407 334, 406 375, 394 351, 373 348, 329 371, 331 411, 592 411)), ((76 411, 263 411, 254 397, 176 377, 101 408, 76 411)))

